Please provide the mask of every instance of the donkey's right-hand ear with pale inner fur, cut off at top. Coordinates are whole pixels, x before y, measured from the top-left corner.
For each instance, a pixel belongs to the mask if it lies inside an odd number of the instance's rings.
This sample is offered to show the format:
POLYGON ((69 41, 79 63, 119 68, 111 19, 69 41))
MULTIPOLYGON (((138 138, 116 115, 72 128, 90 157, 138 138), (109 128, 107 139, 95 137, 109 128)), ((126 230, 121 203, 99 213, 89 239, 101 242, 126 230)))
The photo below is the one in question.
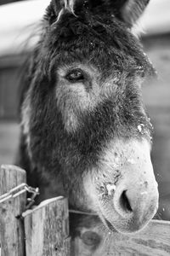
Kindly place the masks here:
POLYGON ((150 0, 127 0, 122 4, 119 10, 120 18, 127 23, 127 26, 133 26, 134 23, 143 14, 144 9, 150 0))

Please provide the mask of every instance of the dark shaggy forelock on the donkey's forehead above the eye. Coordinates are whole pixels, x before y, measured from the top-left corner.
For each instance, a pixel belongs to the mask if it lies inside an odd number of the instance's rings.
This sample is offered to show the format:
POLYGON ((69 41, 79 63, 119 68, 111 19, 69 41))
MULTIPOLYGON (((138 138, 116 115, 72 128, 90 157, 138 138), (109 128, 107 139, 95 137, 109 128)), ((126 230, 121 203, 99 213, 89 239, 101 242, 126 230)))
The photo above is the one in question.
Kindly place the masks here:
POLYGON ((48 49, 50 59, 52 54, 59 64, 91 61, 103 72, 116 68, 137 69, 142 76, 155 73, 138 39, 113 15, 65 12, 57 24, 48 20, 44 37, 44 52, 47 54, 48 49))

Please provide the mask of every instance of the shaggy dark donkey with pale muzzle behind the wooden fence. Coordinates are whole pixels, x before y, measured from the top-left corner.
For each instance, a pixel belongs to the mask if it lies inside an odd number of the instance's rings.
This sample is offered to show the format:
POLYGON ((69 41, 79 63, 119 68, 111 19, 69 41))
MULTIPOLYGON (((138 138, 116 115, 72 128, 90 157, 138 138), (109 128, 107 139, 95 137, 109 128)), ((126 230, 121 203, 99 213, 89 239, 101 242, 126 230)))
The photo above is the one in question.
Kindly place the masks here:
POLYGON ((37 200, 65 195, 110 230, 156 213, 152 125, 141 84, 155 71, 132 27, 148 0, 52 0, 26 63, 18 165, 37 200))

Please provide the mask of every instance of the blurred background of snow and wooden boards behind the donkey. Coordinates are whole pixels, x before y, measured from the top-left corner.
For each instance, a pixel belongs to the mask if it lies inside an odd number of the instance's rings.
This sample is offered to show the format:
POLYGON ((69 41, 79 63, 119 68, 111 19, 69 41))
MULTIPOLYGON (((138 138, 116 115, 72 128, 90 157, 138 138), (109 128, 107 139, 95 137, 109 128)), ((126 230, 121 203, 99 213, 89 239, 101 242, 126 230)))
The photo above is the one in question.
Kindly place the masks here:
MULTIPOLYGON (((37 41, 31 32, 48 3, 49 0, 0 0, 0 165, 14 163, 20 136, 20 70, 37 41)), ((134 31, 139 27, 144 30, 144 50, 158 73, 157 81, 143 87, 144 103, 155 127, 151 157, 160 191, 156 218, 170 220, 170 1, 150 0, 134 31)))

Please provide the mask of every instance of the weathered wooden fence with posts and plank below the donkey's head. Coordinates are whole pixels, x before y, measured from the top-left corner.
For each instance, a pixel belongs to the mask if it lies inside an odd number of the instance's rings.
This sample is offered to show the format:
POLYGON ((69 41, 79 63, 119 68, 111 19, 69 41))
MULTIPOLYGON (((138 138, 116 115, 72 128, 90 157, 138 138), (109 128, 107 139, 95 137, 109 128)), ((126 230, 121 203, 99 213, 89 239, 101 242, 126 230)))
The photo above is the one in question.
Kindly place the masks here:
MULTIPOLYGON (((2 166, 0 195, 23 183, 25 171, 2 166)), ((14 198, 5 194, 8 200, 0 205, 1 256, 170 255, 170 222, 152 220, 144 230, 131 236, 110 232, 98 223, 82 227, 71 238, 64 197, 43 201, 26 210, 26 193, 22 192, 14 198)))

